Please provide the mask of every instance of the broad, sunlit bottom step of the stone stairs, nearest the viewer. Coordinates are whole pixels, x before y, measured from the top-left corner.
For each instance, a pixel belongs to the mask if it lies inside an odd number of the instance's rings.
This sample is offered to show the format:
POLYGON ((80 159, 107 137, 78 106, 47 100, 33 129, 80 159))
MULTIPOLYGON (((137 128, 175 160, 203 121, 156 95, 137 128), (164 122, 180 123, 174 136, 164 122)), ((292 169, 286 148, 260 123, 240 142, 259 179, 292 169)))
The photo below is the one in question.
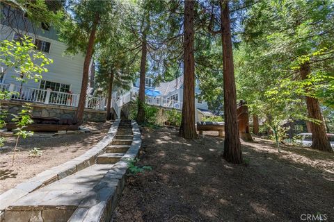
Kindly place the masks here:
POLYGON ((94 164, 27 194, 6 209, 4 221, 67 221, 87 197, 99 193, 97 185, 113 166, 94 164))

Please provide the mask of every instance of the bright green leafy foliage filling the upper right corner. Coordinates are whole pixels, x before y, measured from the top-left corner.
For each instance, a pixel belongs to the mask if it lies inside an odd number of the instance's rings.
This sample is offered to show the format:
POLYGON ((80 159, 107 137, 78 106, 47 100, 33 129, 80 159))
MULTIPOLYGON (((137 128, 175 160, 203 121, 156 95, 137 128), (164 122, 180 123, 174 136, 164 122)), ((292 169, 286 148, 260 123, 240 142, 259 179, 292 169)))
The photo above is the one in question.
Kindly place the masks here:
POLYGON ((237 94, 250 112, 276 125, 306 119, 305 96, 333 107, 333 8, 328 0, 259 1, 249 8, 234 60, 237 94), (303 79, 305 62, 310 74, 303 79))

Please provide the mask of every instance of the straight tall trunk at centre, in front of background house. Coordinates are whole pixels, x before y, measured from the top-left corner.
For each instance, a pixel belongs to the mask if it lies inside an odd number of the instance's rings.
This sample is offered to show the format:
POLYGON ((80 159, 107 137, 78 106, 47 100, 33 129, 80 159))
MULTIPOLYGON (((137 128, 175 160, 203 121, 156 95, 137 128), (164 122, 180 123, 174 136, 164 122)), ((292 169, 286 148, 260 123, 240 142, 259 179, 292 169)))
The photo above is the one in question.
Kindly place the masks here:
POLYGON ((193 56, 193 19, 195 1, 184 1, 184 67, 183 105, 180 137, 196 139, 195 126, 195 60, 193 56))

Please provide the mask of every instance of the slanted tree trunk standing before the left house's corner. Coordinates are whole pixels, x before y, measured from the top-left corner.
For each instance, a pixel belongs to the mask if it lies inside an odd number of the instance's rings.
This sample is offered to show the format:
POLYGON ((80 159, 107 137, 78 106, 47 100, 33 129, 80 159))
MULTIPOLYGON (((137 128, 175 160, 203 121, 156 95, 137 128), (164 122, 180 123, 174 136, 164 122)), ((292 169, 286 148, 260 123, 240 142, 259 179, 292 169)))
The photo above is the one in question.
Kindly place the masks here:
POLYGON ((87 85, 88 85, 88 74, 89 74, 89 65, 90 60, 92 60, 93 49, 94 49, 94 41, 95 41, 95 33, 97 29, 97 24, 99 23, 99 14, 95 15, 95 19, 93 22, 92 30, 90 31, 88 46, 84 61, 84 71, 82 72, 82 81, 81 81, 81 90, 79 96, 79 103, 77 112, 75 113, 74 122, 78 125, 81 125, 84 121, 84 110, 86 103, 86 94, 87 94, 87 85))

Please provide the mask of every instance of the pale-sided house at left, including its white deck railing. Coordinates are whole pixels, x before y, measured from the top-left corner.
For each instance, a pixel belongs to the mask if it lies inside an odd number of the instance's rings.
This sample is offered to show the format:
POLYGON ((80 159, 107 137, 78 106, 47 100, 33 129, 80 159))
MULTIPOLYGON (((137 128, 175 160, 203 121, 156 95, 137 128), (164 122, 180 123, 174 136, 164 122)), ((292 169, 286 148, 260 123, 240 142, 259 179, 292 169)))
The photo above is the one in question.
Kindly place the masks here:
MULTIPOLYGON (((6 9, 6 8, 5 8, 6 9)), ((9 10, 1 11, 6 17, 9 10)), ((40 24, 40 27, 33 26, 29 19, 21 16, 15 28, 6 19, 0 23, 0 40, 17 40, 22 35, 29 35, 36 46, 36 50, 45 53, 47 58, 51 58, 53 63, 45 65, 48 69, 42 73, 42 79, 35 82, 33 79, 26 83, 17 81, 13 76, 19 76, 15 69, 8 69, 2 73, 6 67, 1 65, 0 88, 10 89, 10 91, 19 92, 18 96, 12 99, 24 100, 36 103, 67 105, 76 107, 79 101, 81 90, 82 73, 84 69, 84 55, 78 53, 74 56, 65 55, 66 44, 58 40, 58 33, 52 26, 40 24), (47 91, 51 91, 47 93, 47 91), (49 99, 48 99, 49 98, 49 99)), ((93 60, 90 62, 90 71, 93 68, 93 60)), ((90 76, 90 75, 89 75, 90 76)), ((90 89, 91 91, 91 89, 90 89)), ((93 98, 93 97, 92 97, 93 98)), ((88 98, 89 99, 89 98, 88 98)), ((105 99, 95 99, 88 101, 86 108, 104 110, 105 99)))

